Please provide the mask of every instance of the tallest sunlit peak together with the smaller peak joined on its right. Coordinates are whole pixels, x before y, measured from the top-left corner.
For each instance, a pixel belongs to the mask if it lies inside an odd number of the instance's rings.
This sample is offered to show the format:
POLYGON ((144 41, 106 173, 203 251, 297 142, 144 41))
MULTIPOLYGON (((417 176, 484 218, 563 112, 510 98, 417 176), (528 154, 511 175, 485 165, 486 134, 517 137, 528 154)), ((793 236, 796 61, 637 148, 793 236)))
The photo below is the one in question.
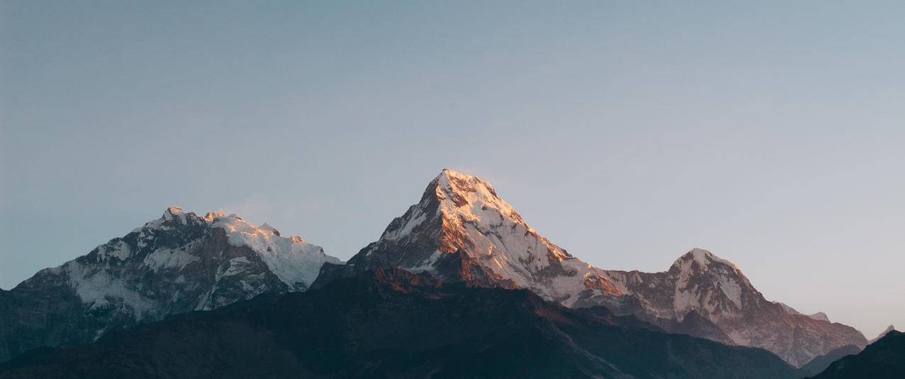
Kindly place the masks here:
POLYGON ((386 266, 475 287, 530 289, 571 308, 605 306, 675 333, 763 347, 793 365, 867 343, 852 327, 767 301, 735 264, 710 251, 689 251, 664 272, 596 269, 529 227, 490 183, 452 170, 347 268, 325 270, 330 277, 337 275, 330 270, 386 266))

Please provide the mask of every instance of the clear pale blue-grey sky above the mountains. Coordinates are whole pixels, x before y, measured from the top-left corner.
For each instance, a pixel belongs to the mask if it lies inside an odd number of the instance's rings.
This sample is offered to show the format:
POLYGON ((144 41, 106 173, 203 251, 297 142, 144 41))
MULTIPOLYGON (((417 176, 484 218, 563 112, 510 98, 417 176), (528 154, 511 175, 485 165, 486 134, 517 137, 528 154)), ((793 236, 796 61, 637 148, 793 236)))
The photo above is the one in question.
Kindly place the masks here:
POLYGON ((0 2, 0 287, 169 205, 348 259, 450 167, 597 267, 905 327, 905 2, 183 3, 0 2))

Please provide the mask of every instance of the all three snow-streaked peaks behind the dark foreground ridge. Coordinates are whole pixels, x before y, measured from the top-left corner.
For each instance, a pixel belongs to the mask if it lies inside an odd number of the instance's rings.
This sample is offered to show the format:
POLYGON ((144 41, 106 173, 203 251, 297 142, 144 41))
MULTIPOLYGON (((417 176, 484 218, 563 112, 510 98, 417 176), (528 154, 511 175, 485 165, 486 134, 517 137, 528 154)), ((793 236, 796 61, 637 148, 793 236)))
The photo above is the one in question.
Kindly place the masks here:
POLYGON ((236 215, 163 217, 60 267, 0 290, 0 361, 37 346, 91 341, 110 328, 209 310, 262 293, 302 291, 363 271, 400 268, 469 287, 529 289, 568 308, 728 345, 762 347, 800 366, 860 332, 825 314, 768 301, 739 268, 693 249, 669 270, 601 270, 532 229, 494 187, 443 170, 412 205, 342 265, 319 246, 236 215))

